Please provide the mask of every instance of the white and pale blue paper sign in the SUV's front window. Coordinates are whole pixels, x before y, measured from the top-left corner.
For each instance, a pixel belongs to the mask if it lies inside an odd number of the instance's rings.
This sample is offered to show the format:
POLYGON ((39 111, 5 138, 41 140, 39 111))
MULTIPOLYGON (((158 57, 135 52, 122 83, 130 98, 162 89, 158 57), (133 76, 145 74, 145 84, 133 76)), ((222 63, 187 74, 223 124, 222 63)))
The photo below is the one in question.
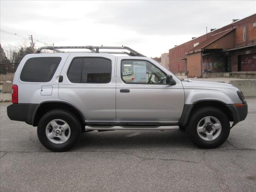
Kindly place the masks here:
POLYGON ((147 82, 147 68, 145 61, 133 62, 134 82, 147 82))

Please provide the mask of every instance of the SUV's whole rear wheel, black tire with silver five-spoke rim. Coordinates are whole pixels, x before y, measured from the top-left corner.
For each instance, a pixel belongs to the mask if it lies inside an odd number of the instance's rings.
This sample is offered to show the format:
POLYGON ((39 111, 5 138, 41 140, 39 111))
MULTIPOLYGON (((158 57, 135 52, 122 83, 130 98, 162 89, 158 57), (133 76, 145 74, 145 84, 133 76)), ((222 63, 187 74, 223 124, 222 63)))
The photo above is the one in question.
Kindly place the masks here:
POLYGON ((81 130, 76 116, 66 110, 51 110, 40 119, 37 134, 45 148, 63 152, 76 144, 81 130))

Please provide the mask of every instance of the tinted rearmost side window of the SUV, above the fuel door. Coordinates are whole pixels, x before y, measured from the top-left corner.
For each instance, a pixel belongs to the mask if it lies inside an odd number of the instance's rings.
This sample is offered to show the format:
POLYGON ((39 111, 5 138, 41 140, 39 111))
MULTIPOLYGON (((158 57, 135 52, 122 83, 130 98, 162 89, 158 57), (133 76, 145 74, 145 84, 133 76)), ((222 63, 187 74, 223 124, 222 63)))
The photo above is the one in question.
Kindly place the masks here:
POLYGON ((24 64, 20 80, 25 82, 49 82, 61 61, 61 57, 34 57, 24 64))

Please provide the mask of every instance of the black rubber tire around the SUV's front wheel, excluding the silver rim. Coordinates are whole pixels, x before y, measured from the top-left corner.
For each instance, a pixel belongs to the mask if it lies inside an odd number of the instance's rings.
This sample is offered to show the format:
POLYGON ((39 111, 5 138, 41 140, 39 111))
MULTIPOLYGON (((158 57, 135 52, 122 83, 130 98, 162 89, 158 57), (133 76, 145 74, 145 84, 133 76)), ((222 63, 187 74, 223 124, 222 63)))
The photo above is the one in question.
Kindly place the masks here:
POLYGON ((220 145, 222 145, 228 138, 230 133, 230 122, 226 114, 219 110, 218 108, 214 107, 204 107, 199 108, 196 111, 193 112, 192 116, 190 117, 188 127, 186 128, 186 132, 188 133, 188 136, 192 140, 194 144, 196 144, 200 148, 216 148, 220 145), (206 116, 213 116, 217 118, 220 121, 220 124, 222 126, 220 135, 210 141, 203 140, 200 138, 197 132, 197 125, 200 122, 200 120, 206 116))

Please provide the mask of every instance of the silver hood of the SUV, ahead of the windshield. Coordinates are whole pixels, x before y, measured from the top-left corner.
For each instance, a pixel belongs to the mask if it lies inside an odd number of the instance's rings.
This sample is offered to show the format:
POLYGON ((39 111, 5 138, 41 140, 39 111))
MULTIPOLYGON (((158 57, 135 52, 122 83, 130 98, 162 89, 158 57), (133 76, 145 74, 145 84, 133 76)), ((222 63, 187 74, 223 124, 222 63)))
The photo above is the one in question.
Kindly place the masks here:
POLYGON ((188 80, 182 81, 184 88, 186 87, 200 87, 206 89, 218 89, 218 88, 227 88, 227 89, 237 89, 232 84, 228 83, 220 83, 220 82, 212 82, 212 81, 195 81, 195 80, 188 80))

